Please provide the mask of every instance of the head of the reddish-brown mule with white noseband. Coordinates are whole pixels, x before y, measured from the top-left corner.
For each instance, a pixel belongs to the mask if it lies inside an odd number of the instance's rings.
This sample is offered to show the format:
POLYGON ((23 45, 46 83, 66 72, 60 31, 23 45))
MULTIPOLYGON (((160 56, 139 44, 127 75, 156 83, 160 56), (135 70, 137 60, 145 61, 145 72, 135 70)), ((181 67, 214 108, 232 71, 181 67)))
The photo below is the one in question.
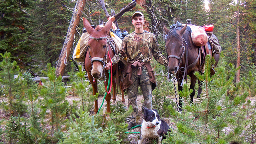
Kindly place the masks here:
POLYGON ((87 43, 89 54, 91 57, 92 70, 91 75, 95 79, 99 79, 103 73, 103 66, 106 64, 106 54, 108 50, 107 34, 110 31, 114 17, 106 23, 105 27, 97 26, 95 29, 91 27, 89 21, 83 17, 84 27, 90 34, 90 39, 87 43))

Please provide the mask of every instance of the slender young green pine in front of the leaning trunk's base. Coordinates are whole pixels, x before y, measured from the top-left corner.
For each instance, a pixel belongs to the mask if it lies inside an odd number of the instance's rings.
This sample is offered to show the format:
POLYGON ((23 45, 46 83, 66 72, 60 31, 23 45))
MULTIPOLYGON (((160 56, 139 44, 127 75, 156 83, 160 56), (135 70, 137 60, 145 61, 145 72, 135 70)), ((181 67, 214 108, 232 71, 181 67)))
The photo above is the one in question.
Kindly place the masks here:
POLYGON ((48 71, 43 71, 47 75, 49 80, 42 80, 44 83, 43 89, 41 89, 40 95, 44 98, 42 101, 42 108, 49 110, 51 137, 52 142, 56 141, 54 137, 60 132, 60 127, 63 124, 62 119, 64 118, 66 111, 68 110, 69 103, 65 98, 65 88, 62 82, 62 77, 55 75, 55 68, 47 64, 48 71))

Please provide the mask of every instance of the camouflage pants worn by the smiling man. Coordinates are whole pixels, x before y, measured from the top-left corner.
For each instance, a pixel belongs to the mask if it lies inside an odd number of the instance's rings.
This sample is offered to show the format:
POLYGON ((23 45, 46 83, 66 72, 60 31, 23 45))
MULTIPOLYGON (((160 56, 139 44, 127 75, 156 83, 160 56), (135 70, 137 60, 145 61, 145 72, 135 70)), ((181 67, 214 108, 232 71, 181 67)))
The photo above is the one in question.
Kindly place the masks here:
POLYGON ((127 118, 127 121, 131 123, 136 123, 136 116, 138 114, 137 93, 139 85, 144 98, 142 107, 145 106, 150 110, 152 109, 152 83, 149 80, 150 78, 148 70, 145 66, 142 66, 142 75, 137 75, 137 70, 138 68, 132 69, 131 79, 133 81, 133 84, 126 89, 128 97, 128 107, 130 105, 133 107, 132 114, 127 118))

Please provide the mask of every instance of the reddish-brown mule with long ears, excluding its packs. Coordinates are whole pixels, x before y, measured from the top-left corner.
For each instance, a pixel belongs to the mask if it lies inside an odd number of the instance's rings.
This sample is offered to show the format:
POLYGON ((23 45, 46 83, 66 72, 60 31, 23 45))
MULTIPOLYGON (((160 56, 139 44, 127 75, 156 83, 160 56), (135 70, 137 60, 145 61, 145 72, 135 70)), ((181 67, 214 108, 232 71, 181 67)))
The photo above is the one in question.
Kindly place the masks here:
MULTIPOLYGON (((112 17, 105 25, 105 27, 97 26, 95 29, 91 27, 91 24, 83 17, 84 20, 84 27, 86 28, 87 32, 90 34, 90 39, 87 43, 88 50, 85 57, 85 70, 88 73, 89 80, 92 84, 93 95, 96 95, 98 91, 97 86, 97 79, 105 80, 108 83, 108 71, 104 70, 105 64, 110 61, 108 58, 108 52, 110 57, 114 56, 114 52, 111 49, 110 43, 108 42, 108 33, 110 31, 112 22, 114 21, 114 17, 112 17), (106 78, 105 78, 106 76, 106 78)), ((116 65, 113 65, 113 102, 116 100, 116 82, 114 78, 116 77, 116 65)), ((121 70, 118 72, 121 74, 121 70)), ((120 85, 122 86, 122 85, 120 85)), ((121 87, 122 89, 122 87, 121 87)), ((106 95, 107 101, 107 112, 110 113, 110 100, 111 95, 106 95)), ((122 102, 124 102, 124 96, 122 93, 122 102)), ((98 100, 95 101, 95 114, 98 112, 98 100)))

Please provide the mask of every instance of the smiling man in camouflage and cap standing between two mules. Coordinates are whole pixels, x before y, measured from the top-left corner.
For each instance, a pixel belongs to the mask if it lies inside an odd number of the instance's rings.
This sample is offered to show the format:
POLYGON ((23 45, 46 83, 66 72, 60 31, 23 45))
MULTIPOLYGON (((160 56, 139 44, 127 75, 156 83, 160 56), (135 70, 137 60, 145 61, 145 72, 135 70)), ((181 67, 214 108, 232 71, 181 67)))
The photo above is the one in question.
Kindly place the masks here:
MULTIPOLYGON (((132 15, 132 23, 135 31, 124 37, 120 50, 111 59, 114 65, 120 60, 128 58, 123 80, 123 89, 127 89, 128 106, 132 105, 133 107, 133 113, 127 118, 128 129, 137 125, 138 106, 136 100, 139 85, 144 98, 142 107, 152 109, 152 91, 156 82, 150 65, 151 54, 160 64, 168 65, 167 59, 159 51, 155 35, 143 30, 144 15, 141 12, 135 12, 132 15)), ((108 62, 105 69, 108 70, 110 65, 111 63, 108 62)))

